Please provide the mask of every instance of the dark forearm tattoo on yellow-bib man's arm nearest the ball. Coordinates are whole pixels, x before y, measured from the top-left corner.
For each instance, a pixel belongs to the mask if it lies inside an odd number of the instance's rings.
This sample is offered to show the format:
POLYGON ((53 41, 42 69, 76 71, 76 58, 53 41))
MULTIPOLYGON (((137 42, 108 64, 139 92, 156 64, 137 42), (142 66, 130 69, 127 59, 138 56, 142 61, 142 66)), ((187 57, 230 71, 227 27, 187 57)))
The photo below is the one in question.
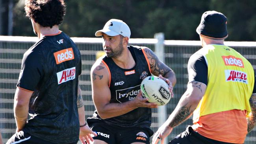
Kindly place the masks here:
POLYGON ((178 126, 184 120, 189 118, 189 116, 193 113, 194 109, 191 109, 191 105, 189 106, 188 103, 181 107, 177 114, 174 116, 172 122, 169 124, 171 127, 178 126))

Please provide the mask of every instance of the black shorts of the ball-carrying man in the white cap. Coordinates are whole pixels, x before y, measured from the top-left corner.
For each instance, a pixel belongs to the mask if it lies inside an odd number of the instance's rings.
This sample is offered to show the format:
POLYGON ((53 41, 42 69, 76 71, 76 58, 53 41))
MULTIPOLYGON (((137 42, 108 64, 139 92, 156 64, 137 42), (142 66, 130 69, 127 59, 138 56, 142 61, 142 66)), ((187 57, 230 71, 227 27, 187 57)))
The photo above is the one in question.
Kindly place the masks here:
POLYGON ((105 122, 91 122, 87 119, 89 127, 97 133, 95 140, 102 140, 108 144, 131 144, 133 142, 143 142, 149 144, 153 131, 144 127, 117 127, 105 122))

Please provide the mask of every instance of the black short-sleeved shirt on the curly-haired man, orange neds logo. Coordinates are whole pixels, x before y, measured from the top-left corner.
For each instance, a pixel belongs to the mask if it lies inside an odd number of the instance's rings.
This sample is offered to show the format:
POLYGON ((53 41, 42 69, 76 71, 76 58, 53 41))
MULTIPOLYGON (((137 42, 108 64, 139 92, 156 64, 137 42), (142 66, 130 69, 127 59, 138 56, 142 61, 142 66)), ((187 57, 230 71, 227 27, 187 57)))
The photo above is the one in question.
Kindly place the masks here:
POLYGON ((78 141, 81 56, 65 33, 43 37, 25 52, 17 87, 33 91, 24 131, 55 143, 78 141))

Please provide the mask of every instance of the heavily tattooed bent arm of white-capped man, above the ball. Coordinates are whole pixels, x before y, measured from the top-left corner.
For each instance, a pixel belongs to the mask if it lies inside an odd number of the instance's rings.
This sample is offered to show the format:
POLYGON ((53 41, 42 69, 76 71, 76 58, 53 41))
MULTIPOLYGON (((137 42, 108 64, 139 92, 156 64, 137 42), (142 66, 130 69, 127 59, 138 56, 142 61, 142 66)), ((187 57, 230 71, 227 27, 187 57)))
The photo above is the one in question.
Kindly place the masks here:
MULTIPOLYGON (((143 49, 145 50, 145 53, 147 55, 151 73, 155 76, 161 75, 164 78, 169 79, 169 81, 171 81, 172 85, 174 86, 176 84, 176 77, 173 70, 169 68, 167 65, 165 65, 163 62, 161 62, 156 56, 156 54, 152 52, 152 50, 150 50, 147 47, 144 47, 143 49)), ((166 81, 166 79, 164 80, 166 81)))

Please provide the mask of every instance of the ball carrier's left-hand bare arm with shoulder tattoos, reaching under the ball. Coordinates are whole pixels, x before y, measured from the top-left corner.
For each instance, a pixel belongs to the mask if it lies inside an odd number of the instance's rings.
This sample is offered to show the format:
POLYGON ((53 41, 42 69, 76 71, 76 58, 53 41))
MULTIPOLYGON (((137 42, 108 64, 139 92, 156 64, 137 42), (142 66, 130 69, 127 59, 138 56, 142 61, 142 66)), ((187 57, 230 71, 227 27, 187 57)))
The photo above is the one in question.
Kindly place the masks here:
POLYGON ((138 107, 157 107, 156 103, 147 103, 141 92, 134 100, 124 103, 110 103, 111 92, 109 89, 110 76, 108 68, 101 62, 96 61, 91 69, 91 85, 93 103, 100 118, 112 118, 128 113, 138 107))

